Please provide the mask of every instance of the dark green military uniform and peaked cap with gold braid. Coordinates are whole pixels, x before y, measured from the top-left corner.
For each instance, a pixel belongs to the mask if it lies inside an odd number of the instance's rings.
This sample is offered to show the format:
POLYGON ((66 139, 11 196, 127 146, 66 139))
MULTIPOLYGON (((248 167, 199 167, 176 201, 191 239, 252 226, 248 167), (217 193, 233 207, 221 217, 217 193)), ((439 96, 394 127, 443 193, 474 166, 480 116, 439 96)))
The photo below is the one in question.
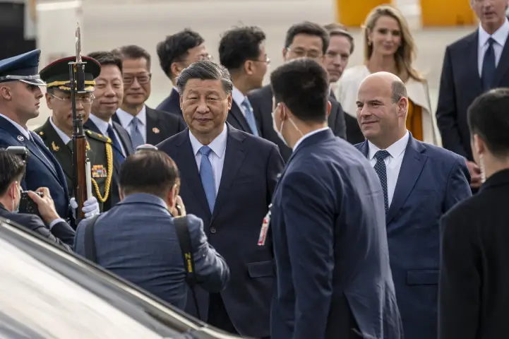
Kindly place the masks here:
MULTIPOLYGON (((68 63, 74 61, 75 57, 67 57, 54 61, 40 71, 42 80, 46 81, 47 88, 57 89, 64 93, 71 92, 69 82, 68 63)), ((85 89, 78 93, 91 93, 95 87, 94 78, 99 76, 100 64, 92 58, 83 57, 85 64, 85 89)), ((74 170, 73 170, 73 142, 64 142, 65 136, 58 131, 49 118, 35 133, 44 141, 46 147, 58 160, 66 177, 68 194, 74 195, 74 170)), ((83 121, 85 123, 85 121, 83 121)), ((102 136, 92 131, 85 131, 87 157, 90 160, 92 177, 92 195, 97 198, 101 212, 112 208, 111 189, 113 169, 112 141, 107 136, 102 136)))

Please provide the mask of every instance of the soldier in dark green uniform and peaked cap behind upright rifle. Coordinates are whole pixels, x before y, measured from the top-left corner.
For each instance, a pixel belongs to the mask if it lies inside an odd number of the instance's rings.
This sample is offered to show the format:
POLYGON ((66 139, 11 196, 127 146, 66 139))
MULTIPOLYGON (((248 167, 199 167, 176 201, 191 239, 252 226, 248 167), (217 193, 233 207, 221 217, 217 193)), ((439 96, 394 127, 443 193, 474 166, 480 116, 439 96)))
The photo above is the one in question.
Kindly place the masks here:
MULTIPOLYGON (((46 103, 52 110, 44 125, 35 132, 59 161, 66 177, 69 194, 73 196, 73 119, 71 106, 71 83, 69 80, 69 62, 76 57, 66 57, 54 61, 40 72, 47 83, 46 103)), ((82 115, 83 123, 90 117, 94 96, 94 79, 99 76, 101 66, 95 59, 83 57, 85 64, 85 88, 76 92, 76 112, 82 115)), ((87 139, 87 157, 90 159, 92 195, 97 198, 100 210, 109 210, 111 206, 113 155, 112 141, 107 136, 85 131, 87 139)))

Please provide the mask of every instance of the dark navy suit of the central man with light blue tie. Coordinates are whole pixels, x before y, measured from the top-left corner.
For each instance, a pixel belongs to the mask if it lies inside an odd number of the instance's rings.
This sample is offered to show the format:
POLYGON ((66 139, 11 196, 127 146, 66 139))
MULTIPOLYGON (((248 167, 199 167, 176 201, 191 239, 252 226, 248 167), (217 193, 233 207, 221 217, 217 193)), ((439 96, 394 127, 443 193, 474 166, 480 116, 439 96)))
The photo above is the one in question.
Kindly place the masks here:
MULTIPOLYGON (((180 195, 187 212, 203 220, 210 244, 224 256, 231 270, 231 281, 221 292, 227 316, 241 335, 263 338, 269 335, 274 266, 272 243, 262 247, 257 242, 283 163, 275 144, 229 124, 227 129, 221 184, 212 214, 188 129, 157 148, 176 162, 181 173, 180 195)), ((197 292, 200 314, 207 321, 209 295, 197 292)), ((186 311, 196 315, 190 302, 186 311)))

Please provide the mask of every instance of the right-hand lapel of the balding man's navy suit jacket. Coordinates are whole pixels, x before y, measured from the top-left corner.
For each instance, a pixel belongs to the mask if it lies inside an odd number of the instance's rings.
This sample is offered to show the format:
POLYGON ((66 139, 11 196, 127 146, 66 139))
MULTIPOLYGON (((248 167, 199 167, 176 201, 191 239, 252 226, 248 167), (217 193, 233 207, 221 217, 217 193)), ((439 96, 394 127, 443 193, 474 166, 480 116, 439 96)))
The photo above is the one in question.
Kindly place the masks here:
POLYGON ((407 201, 410 192, 414 189, 417 179, 421 175, 424 164, 428 159, 428 156, 423 154, 424 150, 426 150, 426 147, 410 134, 400 174, 397 177, 393 201, 390 203, 388 213, 385 216, 387 225, 389 225, 390 221, 393 220, 405 201, 407 201))

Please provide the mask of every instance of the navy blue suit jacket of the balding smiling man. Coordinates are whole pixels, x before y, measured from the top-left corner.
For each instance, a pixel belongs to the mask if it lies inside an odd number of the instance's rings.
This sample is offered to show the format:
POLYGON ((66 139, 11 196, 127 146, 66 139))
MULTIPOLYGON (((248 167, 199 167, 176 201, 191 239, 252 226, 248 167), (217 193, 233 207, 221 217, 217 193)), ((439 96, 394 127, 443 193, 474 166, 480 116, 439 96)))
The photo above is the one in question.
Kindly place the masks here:
MULTIPOLYGON (((356 147, 367 157, 367 141, 356 147)), ((465 159, 409 136, 385 222, 405 337, 437 338, 441 216, 472 192, 465 159)))

